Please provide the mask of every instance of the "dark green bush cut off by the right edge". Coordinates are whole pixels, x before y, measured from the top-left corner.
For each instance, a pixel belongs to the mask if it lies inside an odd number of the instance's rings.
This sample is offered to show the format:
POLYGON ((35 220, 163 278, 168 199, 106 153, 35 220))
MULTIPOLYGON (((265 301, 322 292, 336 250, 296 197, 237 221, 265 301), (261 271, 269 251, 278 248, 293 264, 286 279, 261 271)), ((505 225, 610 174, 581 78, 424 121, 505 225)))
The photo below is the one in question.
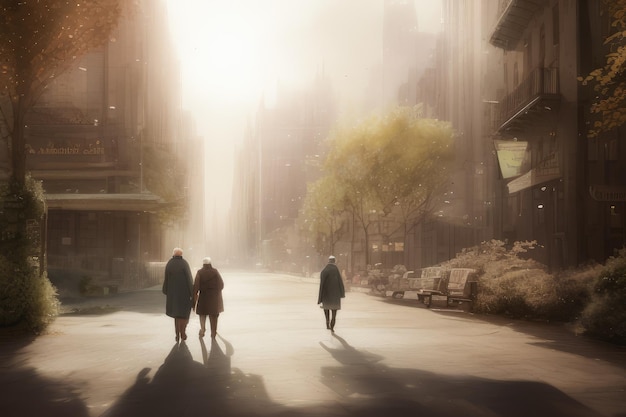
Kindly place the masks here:
POLYGON ((626 345, 626 249, 606 262, 580 323, 590 336, 626 345))

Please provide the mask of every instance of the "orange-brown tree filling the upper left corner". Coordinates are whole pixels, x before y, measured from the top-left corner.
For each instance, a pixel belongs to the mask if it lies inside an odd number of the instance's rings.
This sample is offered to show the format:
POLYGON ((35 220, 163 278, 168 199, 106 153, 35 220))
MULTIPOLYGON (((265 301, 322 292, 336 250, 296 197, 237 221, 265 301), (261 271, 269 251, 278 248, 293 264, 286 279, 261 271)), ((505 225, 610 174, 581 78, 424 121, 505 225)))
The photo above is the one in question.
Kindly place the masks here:
POLYGON ((2 0, 0 10, 0 120, 11 177, 23 185, 27 113, 55 77, 109 41, 122 0, 2 0))

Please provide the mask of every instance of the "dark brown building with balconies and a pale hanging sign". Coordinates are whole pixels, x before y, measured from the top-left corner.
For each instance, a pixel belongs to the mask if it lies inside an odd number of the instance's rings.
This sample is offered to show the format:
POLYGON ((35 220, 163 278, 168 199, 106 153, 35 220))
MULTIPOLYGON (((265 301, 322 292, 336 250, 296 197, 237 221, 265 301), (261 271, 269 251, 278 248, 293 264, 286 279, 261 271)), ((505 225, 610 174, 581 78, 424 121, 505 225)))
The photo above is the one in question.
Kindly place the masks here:
POLYGON ((603 2, 501 1, 489 42, 503 50, 497 104, 499 234, 536 240, 552 268, 604 261, 625 243, 623 129, 589 139, 593 90, 578 77, 603 65, 603 2))

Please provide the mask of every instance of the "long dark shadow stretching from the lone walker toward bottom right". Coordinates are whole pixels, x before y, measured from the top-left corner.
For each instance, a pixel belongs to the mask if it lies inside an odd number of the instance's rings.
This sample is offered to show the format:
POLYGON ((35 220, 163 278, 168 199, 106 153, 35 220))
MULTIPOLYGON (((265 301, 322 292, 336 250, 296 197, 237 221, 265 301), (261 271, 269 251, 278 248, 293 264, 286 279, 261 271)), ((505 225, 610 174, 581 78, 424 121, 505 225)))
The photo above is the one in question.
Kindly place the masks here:
POLYGON ((345 401, 354 416, 550 416, 599 417, 558 389, 533 381, 495 381, 390 368, 380 357, 333 335, 322 344, 342 366, 322 368, 322 382, 345 401))

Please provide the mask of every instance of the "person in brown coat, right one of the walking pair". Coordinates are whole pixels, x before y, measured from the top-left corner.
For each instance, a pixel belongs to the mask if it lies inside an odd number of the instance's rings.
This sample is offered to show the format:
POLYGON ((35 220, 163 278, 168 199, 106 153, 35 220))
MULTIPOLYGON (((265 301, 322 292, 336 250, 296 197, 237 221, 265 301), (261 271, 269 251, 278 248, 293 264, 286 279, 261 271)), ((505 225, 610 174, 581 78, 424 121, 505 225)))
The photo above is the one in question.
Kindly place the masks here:
POLYGON ((224 280, 219 271, 213 268, 211 258, 204 258, 202 269, 198 270, 193 282, 193 305, 200 316, 200 337, 206 332, 206 316, 209 316, 211 338, 217 335, 217 319, 224 311, 223 289, 224 280))

